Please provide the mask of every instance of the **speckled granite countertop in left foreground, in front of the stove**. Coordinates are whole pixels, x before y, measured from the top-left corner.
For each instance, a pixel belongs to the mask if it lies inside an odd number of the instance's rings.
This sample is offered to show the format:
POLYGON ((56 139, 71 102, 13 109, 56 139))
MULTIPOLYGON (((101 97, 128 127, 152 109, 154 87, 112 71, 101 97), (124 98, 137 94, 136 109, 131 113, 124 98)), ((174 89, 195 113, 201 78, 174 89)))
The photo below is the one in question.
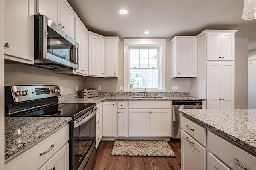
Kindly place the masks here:
POLYGON ((5 160, 71 121, 71 117, 5 117, 5 160))

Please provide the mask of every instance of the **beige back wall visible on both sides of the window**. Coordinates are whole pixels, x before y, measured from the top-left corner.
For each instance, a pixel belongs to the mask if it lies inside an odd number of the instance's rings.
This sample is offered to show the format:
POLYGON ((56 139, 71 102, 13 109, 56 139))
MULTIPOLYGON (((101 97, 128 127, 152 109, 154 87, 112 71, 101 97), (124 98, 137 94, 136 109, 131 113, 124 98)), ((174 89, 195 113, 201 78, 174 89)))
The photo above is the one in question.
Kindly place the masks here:
MULTIPOLYGON (((166 39, 166 92, 173 92, 172 86, 179 86, 178 92, 189 92, 189 78, 171 78, 171 39, 166 39)), ((124 86, 124 39, 120 38, 118 44, 118 78, 86 78, 85 88, 97 88, 101 86, 101 92, 123 92, 120 86, 124 86)), ((175 91, 177 92, 177 91, 175 91)))

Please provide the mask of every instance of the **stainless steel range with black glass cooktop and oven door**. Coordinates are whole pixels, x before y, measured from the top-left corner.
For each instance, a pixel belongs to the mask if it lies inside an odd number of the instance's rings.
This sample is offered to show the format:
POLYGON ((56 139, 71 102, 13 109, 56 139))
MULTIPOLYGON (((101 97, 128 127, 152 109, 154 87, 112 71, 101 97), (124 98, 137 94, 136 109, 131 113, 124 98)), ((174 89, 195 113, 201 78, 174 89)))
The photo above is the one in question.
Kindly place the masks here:
POLYGON ((6 86, 6 116, 70 116, 70 170, 92 170, 96 160, 95 104, 58 103, 58 86, 6 86))

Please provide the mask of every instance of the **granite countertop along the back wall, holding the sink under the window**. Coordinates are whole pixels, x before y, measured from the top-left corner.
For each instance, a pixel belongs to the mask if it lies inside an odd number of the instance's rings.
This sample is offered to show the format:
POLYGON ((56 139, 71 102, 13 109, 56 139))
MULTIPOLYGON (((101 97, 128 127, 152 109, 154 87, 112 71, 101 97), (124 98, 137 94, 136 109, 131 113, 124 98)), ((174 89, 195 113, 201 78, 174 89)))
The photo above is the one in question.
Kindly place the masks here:
POLYGON ((145 100, 156 100, 156 101, 172 101, 172 100, 206 100, 204 98, 196 98, 192 96, 163 96, 164 98, 132 98, 132 96, 102 96, 93 98, 73 98, 73 99, 62 99, 59 103, 95 103, 96 105, 103 101, 145 101, 145 100))

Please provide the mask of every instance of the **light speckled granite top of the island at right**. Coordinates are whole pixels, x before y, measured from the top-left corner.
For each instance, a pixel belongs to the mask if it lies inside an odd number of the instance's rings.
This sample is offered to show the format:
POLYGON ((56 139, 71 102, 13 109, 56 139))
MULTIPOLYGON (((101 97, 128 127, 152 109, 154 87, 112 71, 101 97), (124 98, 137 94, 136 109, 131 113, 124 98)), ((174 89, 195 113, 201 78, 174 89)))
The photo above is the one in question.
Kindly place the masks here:
POLYGON ((179 112, 256 155, 256 109, 179 109, 179 112))

